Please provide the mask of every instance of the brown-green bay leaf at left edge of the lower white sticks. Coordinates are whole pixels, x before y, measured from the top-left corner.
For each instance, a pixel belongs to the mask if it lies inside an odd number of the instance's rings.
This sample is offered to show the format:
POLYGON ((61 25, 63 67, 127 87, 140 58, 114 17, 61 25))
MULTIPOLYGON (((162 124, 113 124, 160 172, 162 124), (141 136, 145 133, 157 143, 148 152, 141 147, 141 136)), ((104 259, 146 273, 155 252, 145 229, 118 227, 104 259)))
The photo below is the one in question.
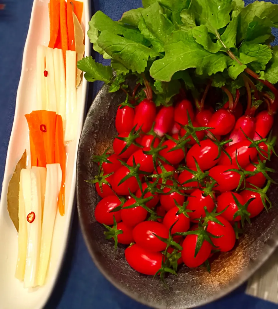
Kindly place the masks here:
POLYGON ((14 223, 16 230, 18 231, 18 202, 19 202, 19 181, 20 171, 22 168, 26 168, 27 154, 26 150, 18 161, 15 167, 15 171, 8 186, 7 204, 8 212, 10 214, 11 221, 14 223))

